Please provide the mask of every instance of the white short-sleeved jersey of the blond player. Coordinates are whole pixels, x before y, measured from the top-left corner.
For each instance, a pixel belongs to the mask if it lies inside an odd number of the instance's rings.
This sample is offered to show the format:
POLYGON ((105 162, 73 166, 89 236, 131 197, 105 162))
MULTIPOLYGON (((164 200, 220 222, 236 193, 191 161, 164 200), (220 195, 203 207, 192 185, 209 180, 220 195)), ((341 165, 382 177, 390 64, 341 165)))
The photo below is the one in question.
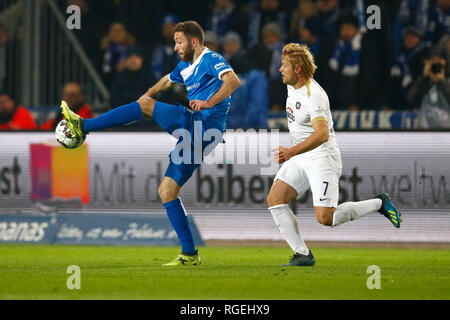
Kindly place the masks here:
POLYGON ((328 155, 340 155, 333 128, 330 102, 325 90, 314 79, 311 79, 309 85, 309 95, 306 85, 299 89, 288 85, 287 89, 286 112, 291 143, 293 145, 303 142, 314 133, 312 126, 312 120, 314 118, 324 117, 328 121, 328 128, 330 130, 327 142, 299 156, 317 158, 328 155))

